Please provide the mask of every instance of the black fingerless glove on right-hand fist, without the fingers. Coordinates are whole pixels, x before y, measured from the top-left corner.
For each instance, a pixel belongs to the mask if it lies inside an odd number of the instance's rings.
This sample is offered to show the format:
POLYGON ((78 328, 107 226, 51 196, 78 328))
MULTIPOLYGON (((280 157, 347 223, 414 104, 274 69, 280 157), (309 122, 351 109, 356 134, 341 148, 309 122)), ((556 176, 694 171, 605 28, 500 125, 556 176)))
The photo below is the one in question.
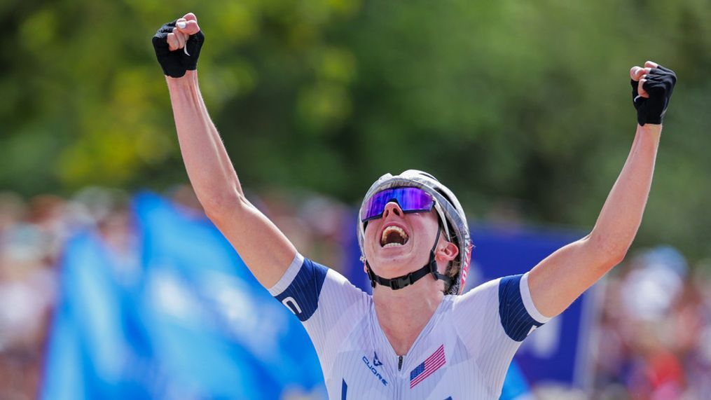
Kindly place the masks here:
POLYGON ((658 65, 647 74, 646 82, 642 87, 649 97, 641 97, 637 92, 639 82, 631 80, 632 102, 637 109, 637 122, 644 124, 661 124, 664 113, 669 105, 671 93, 676 84, 676 74, 669 68, 658 65))

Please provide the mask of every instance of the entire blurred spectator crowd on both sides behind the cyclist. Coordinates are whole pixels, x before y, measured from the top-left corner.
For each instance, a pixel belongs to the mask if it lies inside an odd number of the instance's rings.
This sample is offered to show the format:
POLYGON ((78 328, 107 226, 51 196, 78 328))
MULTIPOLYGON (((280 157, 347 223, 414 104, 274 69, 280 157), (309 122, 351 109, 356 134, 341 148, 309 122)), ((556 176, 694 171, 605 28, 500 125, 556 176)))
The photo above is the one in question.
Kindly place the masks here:
MULTIPOLYGON (((169 195, 201 212, 190 188, 169 195)), ((348 264, 353 232, 343 227, 353 224, 352 207, 285 190, 250 198, 302 252, 326 265, 348 264)), ((88 188, 70 199, 29 200, 0 193, 0 399, 38 397, 63 244, 87 228, 117 254, 135 254, 129 193, 88 188)), ((690 268, 675 249, 659 247, 629 258, 601 283, 594 387, 583 398, 703 399, 711 393, 710 267, 690 268)))

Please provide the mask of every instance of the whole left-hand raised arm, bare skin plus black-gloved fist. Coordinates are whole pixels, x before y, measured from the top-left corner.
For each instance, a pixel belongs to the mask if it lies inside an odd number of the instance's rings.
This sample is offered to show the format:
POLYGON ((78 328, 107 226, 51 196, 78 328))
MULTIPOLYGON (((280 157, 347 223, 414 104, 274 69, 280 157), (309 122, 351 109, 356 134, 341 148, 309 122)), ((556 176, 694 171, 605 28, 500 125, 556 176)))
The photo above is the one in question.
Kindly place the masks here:
POLYGON ((166 74, 183 161, 201 205, 267 288, 279 281, 296 249, 242 192, 240 180, 198 87, 197 57, 203 34, 193 13, 154 36, 166 74))

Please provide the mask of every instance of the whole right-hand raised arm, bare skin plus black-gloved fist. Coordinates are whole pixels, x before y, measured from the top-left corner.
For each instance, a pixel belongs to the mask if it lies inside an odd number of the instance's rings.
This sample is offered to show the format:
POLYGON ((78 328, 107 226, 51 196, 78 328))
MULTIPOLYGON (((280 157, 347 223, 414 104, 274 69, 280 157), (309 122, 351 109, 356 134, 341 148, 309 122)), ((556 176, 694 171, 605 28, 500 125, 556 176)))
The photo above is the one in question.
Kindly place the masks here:
POLYGON ((630 75, 638 113, 637 131, 592 232, 558 249, 530 271, 531 298, 547 317, 562 313, 624 259, 642 220, 662 131, 661 119, 676 77, 671 70, 650 61, 644 68, 633 67, 630 75))

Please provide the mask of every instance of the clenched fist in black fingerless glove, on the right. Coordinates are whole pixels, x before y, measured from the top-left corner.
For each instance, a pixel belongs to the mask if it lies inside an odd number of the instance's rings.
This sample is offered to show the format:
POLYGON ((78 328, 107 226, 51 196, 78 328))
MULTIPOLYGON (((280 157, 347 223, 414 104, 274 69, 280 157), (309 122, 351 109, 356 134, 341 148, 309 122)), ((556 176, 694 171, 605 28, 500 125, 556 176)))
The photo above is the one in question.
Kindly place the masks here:
POLYGON ((632 67, 629 75, 637 122, 641 126, 661 124, 676 85, 676 74, 669 68, 647 61, 644 67, 632 67))

